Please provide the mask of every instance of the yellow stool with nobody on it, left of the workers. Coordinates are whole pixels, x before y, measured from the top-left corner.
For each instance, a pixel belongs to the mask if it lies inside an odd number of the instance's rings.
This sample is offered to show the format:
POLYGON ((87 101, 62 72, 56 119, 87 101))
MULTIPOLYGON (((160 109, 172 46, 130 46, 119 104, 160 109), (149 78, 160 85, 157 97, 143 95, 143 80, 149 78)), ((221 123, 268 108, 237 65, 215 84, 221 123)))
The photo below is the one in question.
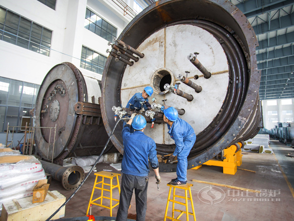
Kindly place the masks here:
POLYGON ((95 179, 95 183, 94 183, 94 186, 93 186, 93 190, 92 190, 92 194, 91 194, 91 198, 90 198, 90 201, 89 201, 89 205, 88 205, 88 210, 87 210, 87 214, 89 213, 89 209, 90 209, 90 205, 93 204, 93 205, 97 205, 97 206, 101 206, 101 207, 104 207, 104 208, 107 208, 107 209, 110 209, 110 216, 112 217, 112 209, 114 207, 116 207, 117 205, 120 204, 120 200, 119 199, 114 199, 112 198, 112 190, 114 188, 119 188, 119 193, 121 193, 121 188, 120 188, 120 183, 119 183, 119 176, 121 174, 119 173, 112 173, 112 172, 107 172, 107 171, 100 171, 100 172, 97 172, 97 173, 94 173, 96 175, 96 179, 95 179), (102 181, 100 182, 97 182, 97 178, 98 176, 101 176, 102 177, 102 181), (112 180, 113 178, 116 177, 117 178, 117 185, 113 185, 112 184, 112 180), (104 178, 109 178, 110 179, 110 184, 108 183, 104 183, 104 178), (98 184, 101 184, 101 187, 98 187, 98 184), (110 186, 110 189, 105 189, 104 188, 104 185, 106 186, 110 186), (93 194, 94 194, 94 190, 95 189, 98 189, 98 190, 101 190, 101 196, 99 196, 98 198, 96 199, 92 199, 93 198, 93 194), (103 191, 108 191, 110 192, 110 197, 107 197, 107 196, 103 196, 103 191), (105 206, 105 205, 102 205, 102 201, 103 201, 103 198, 105 199, 110 199, 110 206, 105 206), (100 199, 100 203, 96 203, 95 201, 99 200, 100 199), (112 205, 112 201, 118 201, 117 204, 115 205, 112 205))

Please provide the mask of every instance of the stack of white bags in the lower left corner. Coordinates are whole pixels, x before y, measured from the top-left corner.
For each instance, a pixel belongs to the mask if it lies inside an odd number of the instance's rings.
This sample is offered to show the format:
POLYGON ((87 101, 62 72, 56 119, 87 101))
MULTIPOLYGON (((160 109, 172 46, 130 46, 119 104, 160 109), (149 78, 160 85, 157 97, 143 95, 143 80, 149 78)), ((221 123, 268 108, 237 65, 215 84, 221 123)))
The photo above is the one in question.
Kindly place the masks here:
POLYGON ((0 164, 0 214, 2 203, 32 195, 42 179, 47 179, 45 171, 34 156, 15 164, 0 164))

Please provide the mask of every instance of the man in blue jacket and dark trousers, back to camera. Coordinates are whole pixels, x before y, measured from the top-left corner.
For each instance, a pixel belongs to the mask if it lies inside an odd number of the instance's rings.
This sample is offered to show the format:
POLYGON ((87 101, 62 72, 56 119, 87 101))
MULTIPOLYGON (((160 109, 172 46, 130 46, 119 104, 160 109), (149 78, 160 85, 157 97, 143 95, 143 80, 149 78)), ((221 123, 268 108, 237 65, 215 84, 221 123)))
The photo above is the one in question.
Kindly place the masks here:
POLYGON ((126 221, 133 190, 135 189, 137 221, 145 221, 147 210, 147 188, 149 163, 155 172, 156 184, 161 182, 159 175, 156 144, 144 134, 146 119, 133 113, 123 127, 123 162, 120 205, 116 221, 126 221), (135 129, 130 133, 131 125, 135 129))

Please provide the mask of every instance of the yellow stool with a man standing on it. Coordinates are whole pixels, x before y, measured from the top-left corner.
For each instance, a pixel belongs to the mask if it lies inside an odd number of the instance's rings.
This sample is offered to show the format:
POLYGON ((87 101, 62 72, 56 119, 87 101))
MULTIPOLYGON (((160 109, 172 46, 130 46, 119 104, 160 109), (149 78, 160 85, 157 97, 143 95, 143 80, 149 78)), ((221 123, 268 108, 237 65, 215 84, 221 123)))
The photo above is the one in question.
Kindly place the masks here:
POLYGON ((164 221, 166 221, 166 219, 170 219, 170 220, 174 220, 174 221, 179 221, 180 217, 186 213, 186 217, 187 217, 187 221, 189 221, 189 215, 193 215, 194 217, 194 221, 196 221, 196 216, 195 216, 195 210, 194 210, 194 204, 193 204, 193 199, 192 199, 192 193, 191 193, 191 187, 193 187, 193 184, 191 183, 187 183, 186 185, 182 185, 182 186, 172 186, 171 184, 167 184, 167 186, 170 187, 170 192, 169 192, 169 197, 168 197, 168 202, 167 202, 167 208, 166 208, 166 212, 164 215, 164 221), (172 193, 172 188, 173 188, 173 194, 172 194, 172 199, 171 199, 171 193, 172 193), (176 195, 175 194, 175 189, 182 189, 185 190, 185 196, 181 196, 181 195, 176 195), (188 198, 187 195, 187 191, 189 190, 189 194, 190 194, 190 198, 188 198), (175 197, 178 198, 182 198, 185 199, 185 203, 179 202, 175 200, 175 197), (189 213, 188 212, 188 199, 191 201, 191 206, 192 206, 192 211, 193 213, 189 213), (172 217, 168 217, 168 208, 169 208, 169 203, 172 202, 172 217), (178 210, 174 208, 174 203, 186 206, 186 211, 183 210, 178 210), (180 215, 177 218, 174 218, 174 211, 176 212, 180 212, 180 215))

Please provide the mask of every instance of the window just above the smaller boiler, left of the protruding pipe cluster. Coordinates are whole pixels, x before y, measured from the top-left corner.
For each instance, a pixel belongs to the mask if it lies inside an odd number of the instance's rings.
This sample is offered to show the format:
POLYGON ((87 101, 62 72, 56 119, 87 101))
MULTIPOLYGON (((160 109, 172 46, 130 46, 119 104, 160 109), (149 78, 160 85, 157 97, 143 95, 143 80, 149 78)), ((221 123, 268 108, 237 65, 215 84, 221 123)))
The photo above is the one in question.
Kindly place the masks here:
POLYGON ((82 48, 81 68, 102 74, 107 57, 85 46, 82 48))

